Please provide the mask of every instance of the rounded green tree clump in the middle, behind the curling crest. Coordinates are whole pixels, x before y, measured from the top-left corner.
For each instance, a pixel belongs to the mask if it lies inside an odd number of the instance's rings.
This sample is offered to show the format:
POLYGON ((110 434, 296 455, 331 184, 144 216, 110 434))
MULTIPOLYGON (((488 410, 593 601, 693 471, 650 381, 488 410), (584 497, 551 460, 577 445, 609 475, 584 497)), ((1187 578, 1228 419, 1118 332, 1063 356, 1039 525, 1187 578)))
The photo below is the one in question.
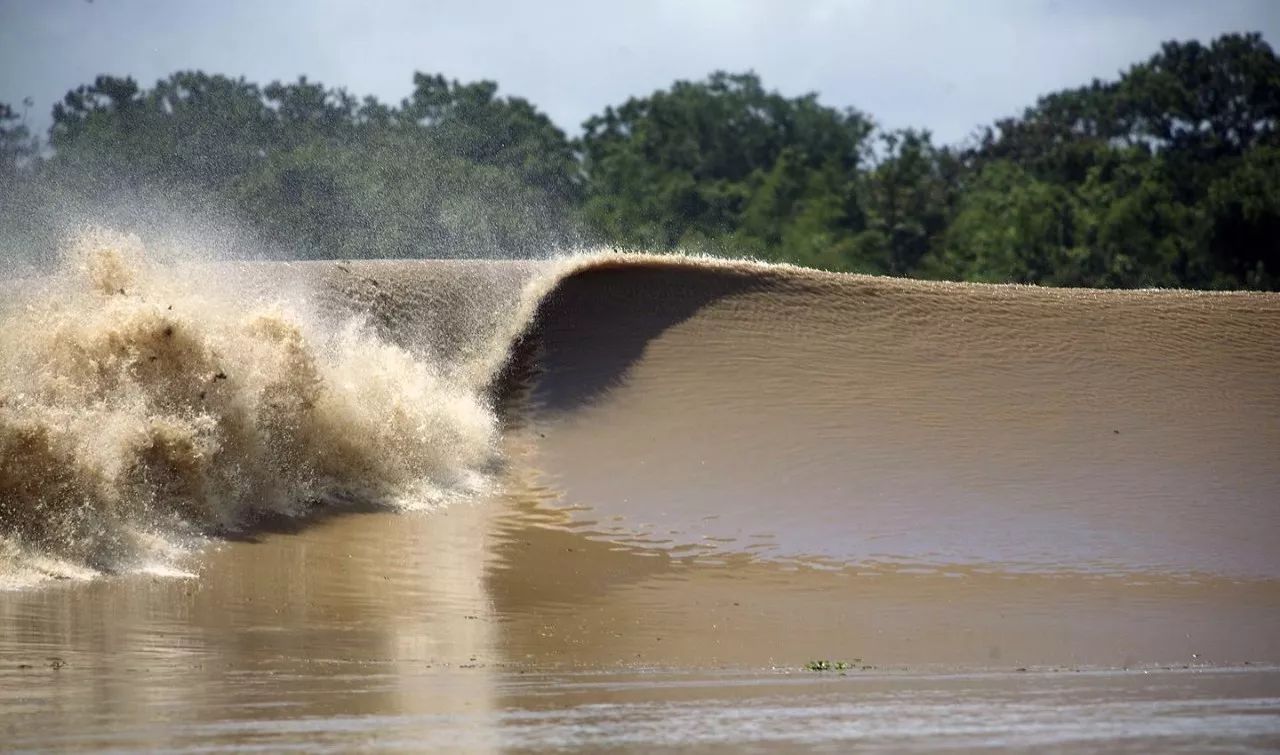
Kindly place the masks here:
POLYGON ((749 235, 776 239, 812 188, 799 175, 824 173, 828 186, 838 177, 844 192, 870 129, 855 110, 826 107, 815 95, 783 97, 750 73, 676 82, 584 124, 586 216, 622 244, 732 244, 744 221, 749 235), (754 201, 756 191, 767 196, 754 201))

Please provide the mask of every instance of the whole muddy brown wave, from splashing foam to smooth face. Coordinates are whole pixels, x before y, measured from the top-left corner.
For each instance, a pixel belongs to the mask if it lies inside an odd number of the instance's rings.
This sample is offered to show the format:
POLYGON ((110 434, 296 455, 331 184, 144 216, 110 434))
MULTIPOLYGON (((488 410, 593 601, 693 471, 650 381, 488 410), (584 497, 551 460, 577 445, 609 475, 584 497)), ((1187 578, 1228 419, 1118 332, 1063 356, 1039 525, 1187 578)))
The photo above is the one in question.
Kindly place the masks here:
POLYGON ((1274 294, 617 253, 166 266, 106 232, 3 290, 8 585, 462 500, 515 435, 636 541, 1280 575, 1274 294))

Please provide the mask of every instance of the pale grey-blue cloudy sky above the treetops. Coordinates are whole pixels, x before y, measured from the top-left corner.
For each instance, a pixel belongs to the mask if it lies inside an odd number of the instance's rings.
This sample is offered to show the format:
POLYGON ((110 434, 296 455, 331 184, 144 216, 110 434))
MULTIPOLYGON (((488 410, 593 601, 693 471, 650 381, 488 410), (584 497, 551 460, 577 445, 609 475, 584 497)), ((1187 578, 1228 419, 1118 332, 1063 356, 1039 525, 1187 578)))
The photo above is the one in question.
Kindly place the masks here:
POLYGON ((1170 38, 1261 31, 1280 0, 0 0, 0 101, 31 120, 96 74, 306 74, 398 102, 415 70, 490 78, 571 134, 631 95, 753 69, 942 142, 1111 78, 1170 38))

